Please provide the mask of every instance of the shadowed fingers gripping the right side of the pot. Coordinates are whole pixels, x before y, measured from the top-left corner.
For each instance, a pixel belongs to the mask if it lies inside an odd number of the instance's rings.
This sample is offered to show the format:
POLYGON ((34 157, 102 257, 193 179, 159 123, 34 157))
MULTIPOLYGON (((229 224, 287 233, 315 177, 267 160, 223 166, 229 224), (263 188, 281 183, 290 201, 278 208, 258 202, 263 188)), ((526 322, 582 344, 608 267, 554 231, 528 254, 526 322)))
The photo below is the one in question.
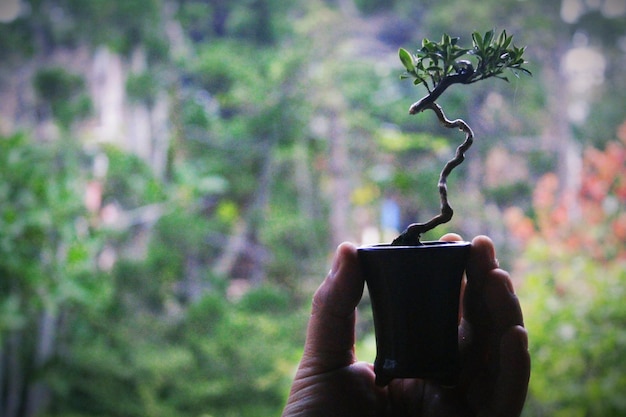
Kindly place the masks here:
POLYGON ((488 415, 517 416, 530 376, 528 337, 513 284, 489 238, 472 241, 466 272, 459 337, 471 401, 488 415))

